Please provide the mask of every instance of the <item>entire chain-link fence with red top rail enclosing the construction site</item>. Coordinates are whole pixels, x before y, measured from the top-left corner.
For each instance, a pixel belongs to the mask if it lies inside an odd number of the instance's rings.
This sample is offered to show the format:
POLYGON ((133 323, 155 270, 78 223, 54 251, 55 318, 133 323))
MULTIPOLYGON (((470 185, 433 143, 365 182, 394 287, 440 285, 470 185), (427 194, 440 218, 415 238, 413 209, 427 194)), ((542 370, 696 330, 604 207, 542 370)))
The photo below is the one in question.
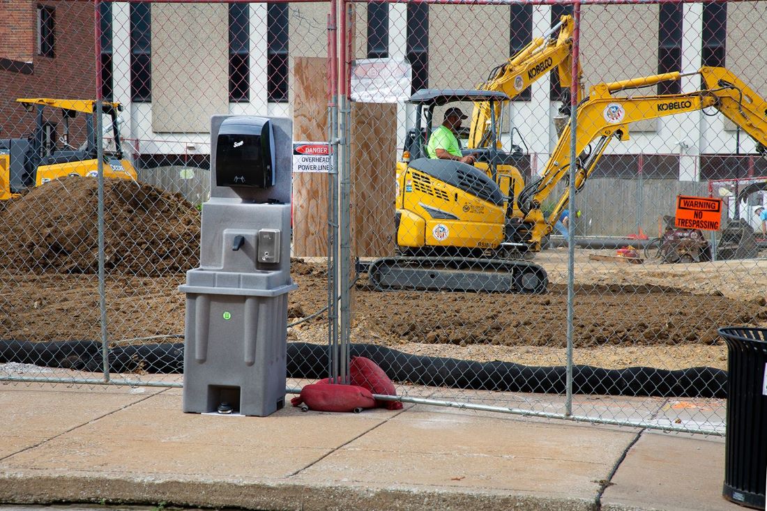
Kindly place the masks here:
POLYGON ((716 328, 767 326, 767 2, 339 2, 337 46, 331 6, 20 9, 0 379, 179 386, 209 118, 279 116, 339 156, 293 176, 295 385, 330 347, 414 402, 723 434, 716 328))

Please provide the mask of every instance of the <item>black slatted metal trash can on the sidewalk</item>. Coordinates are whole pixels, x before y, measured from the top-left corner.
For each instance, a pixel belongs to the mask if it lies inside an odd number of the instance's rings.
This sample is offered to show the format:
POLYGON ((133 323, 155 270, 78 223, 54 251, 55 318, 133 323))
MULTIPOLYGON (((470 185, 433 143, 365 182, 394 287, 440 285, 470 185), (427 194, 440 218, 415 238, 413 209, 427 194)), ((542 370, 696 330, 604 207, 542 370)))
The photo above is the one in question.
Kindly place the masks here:
POLYGON ((767 328, 719 328, 727 343, 727 437, 723 495, 765 509, 767 328))

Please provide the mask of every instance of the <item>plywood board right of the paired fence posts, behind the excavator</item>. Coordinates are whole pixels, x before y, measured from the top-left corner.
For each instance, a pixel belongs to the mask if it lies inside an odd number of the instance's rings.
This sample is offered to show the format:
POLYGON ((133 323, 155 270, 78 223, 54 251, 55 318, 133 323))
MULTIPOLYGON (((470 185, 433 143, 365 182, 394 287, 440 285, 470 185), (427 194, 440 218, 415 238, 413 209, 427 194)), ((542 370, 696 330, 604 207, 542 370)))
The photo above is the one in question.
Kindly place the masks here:
POLYGON ((393 255, 397 105, 351 105, 351 236, 357 257, 393 255))

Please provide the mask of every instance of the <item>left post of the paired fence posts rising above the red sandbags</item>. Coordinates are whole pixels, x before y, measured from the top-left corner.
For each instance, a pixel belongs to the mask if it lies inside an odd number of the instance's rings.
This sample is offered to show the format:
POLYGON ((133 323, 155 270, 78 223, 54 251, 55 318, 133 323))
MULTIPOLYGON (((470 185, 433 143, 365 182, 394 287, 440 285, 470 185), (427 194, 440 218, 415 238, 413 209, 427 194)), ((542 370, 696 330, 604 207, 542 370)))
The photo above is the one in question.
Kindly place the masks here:
POLYGON ((337 383, 338 360, 338 66, 337 66, 337 2, 331 0, 328 15, 328 137, 331 140, 331 170, 328 173, 328 377, 337 383))

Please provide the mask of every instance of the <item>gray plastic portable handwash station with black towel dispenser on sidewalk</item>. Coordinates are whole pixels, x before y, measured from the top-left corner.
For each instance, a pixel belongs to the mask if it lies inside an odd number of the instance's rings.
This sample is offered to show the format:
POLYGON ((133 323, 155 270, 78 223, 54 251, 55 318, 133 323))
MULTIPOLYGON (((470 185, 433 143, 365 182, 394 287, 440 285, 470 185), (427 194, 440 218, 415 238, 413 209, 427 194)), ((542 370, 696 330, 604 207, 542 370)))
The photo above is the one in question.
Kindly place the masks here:
POLYGON ((186 273, 185 412, 285 404, 292 123, 214 116, 199 268, 186 273))

